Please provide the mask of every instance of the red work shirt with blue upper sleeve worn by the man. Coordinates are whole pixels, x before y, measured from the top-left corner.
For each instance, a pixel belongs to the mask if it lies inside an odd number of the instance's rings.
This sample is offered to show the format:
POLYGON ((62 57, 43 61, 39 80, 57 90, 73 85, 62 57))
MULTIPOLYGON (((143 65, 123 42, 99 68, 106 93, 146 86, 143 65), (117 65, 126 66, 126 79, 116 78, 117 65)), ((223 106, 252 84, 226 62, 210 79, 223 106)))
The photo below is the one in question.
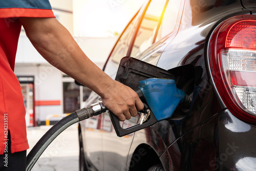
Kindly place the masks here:
POLYGON ((22 27, 17 17, 55 17, 48 0, 35 4, 20 2, 24 1, 0 2, 0 155, 6 149, 8 130, 11 153, 29 148, 22 90, 13 72, 22 27))

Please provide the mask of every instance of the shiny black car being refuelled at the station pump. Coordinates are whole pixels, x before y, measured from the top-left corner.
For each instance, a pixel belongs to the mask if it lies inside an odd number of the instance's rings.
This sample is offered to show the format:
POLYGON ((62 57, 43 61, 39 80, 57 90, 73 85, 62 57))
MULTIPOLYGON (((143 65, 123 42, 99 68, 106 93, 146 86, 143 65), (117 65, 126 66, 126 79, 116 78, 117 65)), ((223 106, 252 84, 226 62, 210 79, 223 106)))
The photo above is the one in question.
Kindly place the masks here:
POLYGON ((125 56, 150 63, 191 103, 122 137, 108 112, 79 122, 80 170, 256 170, 255 12, 249 0, 146 1, 103 70, 116 79, 125 56))

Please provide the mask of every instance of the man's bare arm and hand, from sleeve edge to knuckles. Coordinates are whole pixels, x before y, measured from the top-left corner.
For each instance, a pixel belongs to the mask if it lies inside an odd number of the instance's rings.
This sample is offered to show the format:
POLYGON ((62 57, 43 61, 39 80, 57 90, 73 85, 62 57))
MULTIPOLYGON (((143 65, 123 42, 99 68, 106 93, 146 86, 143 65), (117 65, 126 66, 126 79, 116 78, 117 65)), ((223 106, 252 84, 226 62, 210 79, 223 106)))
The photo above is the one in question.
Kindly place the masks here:
POLYGON ((33 46, 49 63, 97 93, 121 121, 143 109, 138 95, 99 69, 56 18, 20 17, 19 20, 33 46))

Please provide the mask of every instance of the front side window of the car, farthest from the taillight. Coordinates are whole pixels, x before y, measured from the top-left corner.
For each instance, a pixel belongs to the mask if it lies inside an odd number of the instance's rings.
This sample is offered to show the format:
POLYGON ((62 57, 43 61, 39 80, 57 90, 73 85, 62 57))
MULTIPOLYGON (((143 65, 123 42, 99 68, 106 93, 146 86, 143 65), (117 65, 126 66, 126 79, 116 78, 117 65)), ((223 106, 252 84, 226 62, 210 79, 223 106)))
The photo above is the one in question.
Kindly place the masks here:
POLYGON ((129 45, 132 39, 132 34, 134 33, 135 25, 138 22, 138 15, 134 17, 134 19, 130 22, 130 25, 127 26, 126 30, 123 32, 122 36, 120 37, 115 49, 113 50, 110 58, 119 63, 122 57, 126 56, 127 51, 129 49, 129 45))

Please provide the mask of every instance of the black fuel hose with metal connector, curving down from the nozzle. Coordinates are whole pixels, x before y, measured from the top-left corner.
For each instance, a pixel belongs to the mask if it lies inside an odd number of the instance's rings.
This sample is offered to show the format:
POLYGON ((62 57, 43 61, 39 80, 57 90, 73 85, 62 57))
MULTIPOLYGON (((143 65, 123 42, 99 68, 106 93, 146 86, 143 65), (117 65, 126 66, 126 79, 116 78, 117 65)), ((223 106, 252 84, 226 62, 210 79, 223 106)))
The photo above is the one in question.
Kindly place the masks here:
POLYGON ((80 109, 54 124, 50 130, 46 132, 44 136, 35 144, 27 156, 27 167, 26 171, 30 171, 41 154, 50 145, 50 143, 64 130, 66 130, 72 124, 88 119, 92 116, 99 115, 105 112, 105 108, 102 101, 92 104, 89 108, 80 109))

